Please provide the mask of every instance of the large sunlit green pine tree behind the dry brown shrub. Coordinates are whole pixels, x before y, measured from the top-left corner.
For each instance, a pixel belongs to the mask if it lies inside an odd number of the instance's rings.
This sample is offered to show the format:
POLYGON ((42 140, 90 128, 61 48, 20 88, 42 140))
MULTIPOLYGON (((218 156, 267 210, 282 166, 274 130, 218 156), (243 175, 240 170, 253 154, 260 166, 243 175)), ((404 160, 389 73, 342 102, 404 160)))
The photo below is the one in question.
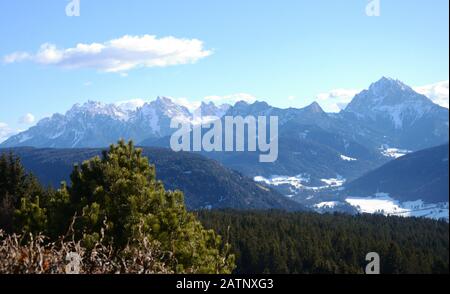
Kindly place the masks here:
POLYGON ((103 152, 102 158, 75 166, 71 181, 57 195, 69 196, 72 215, 79 215, 76 230, 86 246, 99 240, 106 220, 109 242, 123 248, 144 232, 174 255, 176 263, 171 266, 175 272, 233 270, 229 245, 187 212, 180 191, 164 189, 154 166, 131 141, 121 140, 103 152))

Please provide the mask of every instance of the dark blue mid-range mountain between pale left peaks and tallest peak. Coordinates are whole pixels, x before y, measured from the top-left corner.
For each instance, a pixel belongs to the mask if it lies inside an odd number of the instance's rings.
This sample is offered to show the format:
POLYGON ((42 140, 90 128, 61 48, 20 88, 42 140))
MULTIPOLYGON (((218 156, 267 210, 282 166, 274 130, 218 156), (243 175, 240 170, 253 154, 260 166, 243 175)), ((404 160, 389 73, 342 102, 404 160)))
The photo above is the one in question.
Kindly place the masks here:
MULTIPOLYGON (((205 152, 227 167, 251 177, 293 177, 307 174, 311 185, 342 175, 353 179, 384 163, 380 152, 365 147, 345 133, 318 103, 304 108, 281 109, 266 102, 238 102, 226 115, 278 116, 278 159, 260 164, 254 152, 205 152)), ((345 127, 344 127, 345 129, 345 127)), ((167 146, 167 145, 166 145, 167 146)))

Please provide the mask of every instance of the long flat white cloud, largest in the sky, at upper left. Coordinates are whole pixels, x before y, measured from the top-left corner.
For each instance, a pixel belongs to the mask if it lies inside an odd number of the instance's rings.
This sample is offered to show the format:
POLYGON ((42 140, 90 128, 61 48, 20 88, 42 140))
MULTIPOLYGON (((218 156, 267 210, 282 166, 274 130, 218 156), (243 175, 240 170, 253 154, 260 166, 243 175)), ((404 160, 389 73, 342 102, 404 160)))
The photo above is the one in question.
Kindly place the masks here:
POLYGON ((157 38, 153 35, 125 35, 104 43, 77 44, 59 49, 43 44, 35 53, 14 52, 3 57, 6 63, 32 61, 63 68, 91 68, 103 72, 124 72, 138 67, 166 67, 195 63, 212 54, 197 39, 157 38))

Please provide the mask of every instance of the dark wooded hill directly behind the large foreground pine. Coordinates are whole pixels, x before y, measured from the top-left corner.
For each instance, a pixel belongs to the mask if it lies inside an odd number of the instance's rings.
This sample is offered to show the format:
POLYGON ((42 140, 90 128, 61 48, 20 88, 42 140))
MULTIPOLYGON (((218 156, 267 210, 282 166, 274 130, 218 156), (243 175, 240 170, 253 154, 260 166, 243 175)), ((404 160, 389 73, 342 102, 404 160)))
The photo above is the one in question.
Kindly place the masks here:
MULTIPOLYGON (((24 166, 42 184, 58 187, 61 181, 69 182, 73 164, 100 155, 102 150, 0 149, 0 153, 10 151, 21 158, 24 166)), ((144 148, 143 153, 155 164, 157 178, 163 181, 167 189, 184 192, 186 205, 190 209, 303 209, 281 194, 200 155, 175 153, 161 148, 144 148)))

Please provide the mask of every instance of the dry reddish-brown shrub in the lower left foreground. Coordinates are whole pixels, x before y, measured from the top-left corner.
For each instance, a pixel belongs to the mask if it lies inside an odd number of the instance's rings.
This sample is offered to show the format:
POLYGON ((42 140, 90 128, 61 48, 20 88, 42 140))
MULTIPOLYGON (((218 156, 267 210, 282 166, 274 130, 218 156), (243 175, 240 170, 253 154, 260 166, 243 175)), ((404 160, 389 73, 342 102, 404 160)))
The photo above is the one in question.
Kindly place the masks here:
POLYGON ((6 234, 0 230, 0 273, 64 274, 73 270, 80 274, 172 273, 166 266, 173 261, 172 255, 162 252, 157 241, 140 234, 117 251, 112 245, 103 244, 103 231, 100 241, 92 249, 86 249, 74 240, 72 229, 69 238, 66 235, 56 242, 50 242, 42 234, 6 234), (81 257, 79 269, 73 268, 69 259, 74 253, 81 257))

